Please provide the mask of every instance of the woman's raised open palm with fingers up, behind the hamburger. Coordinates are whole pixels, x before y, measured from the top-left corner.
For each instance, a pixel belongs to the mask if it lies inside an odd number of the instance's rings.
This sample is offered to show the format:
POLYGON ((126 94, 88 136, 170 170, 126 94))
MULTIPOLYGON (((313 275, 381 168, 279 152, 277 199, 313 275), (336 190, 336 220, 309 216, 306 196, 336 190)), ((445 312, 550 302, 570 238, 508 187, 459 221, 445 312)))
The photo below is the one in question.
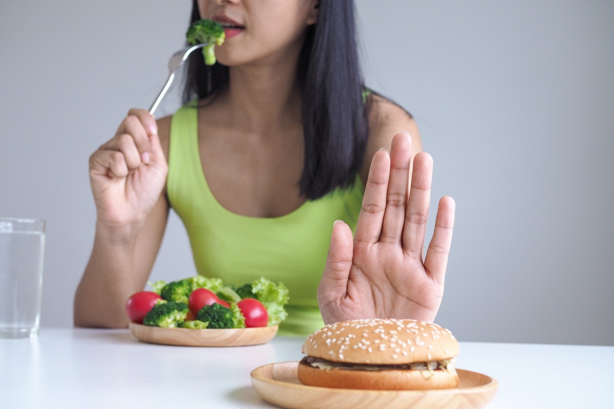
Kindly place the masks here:
POLYGON ((371 162, 362 210, 352 231, 335 222, 317 299, 325 324, 357 318, 413 318, 433 321, 443 296, 454 224, 454 200, 439 202, 435 231, 424 260, 433 161, 414 158, 408 184, 411 138, 392 139, 390 154, 371 162))

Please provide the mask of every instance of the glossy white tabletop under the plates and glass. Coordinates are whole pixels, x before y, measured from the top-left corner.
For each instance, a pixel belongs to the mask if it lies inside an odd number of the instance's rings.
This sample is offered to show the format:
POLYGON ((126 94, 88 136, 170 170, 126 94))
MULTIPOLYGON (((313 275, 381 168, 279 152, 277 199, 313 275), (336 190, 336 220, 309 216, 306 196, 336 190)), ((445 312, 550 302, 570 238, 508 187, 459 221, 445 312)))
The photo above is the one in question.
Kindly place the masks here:
MULTIPOLYGON (((249 373, 298 361, 302 343, 194 348, 142 343, 127 329, 42 328, 38 340, 0 339, 0 407, 272 407, 249 373)), ((614 346, 461 342, 457 366, 499 381, 488 408, 614 408, 614 346)))

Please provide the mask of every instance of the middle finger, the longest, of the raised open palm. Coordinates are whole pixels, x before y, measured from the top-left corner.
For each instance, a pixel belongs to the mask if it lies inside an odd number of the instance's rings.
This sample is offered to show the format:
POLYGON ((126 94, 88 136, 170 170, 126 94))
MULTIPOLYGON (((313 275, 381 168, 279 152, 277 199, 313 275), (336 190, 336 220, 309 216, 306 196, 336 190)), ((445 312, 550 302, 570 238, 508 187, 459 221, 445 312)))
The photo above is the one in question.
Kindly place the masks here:
POLYGON ((392 139, 386 211, 379 239, 381 242, 399 243, 401 241, 410 180, 410 162, 411 137, 401 132, 392 139))

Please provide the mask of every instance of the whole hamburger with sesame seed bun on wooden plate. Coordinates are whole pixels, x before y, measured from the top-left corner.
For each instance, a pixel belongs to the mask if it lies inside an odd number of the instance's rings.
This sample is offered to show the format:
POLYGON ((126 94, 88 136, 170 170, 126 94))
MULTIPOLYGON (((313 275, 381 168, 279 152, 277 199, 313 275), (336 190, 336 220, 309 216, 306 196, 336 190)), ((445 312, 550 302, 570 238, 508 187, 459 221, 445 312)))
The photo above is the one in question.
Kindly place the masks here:
POLYGON ((344 389, 448 389, 459 343, 437 324, 414 319, 354 319, 309 335, 298 380, 344 389))

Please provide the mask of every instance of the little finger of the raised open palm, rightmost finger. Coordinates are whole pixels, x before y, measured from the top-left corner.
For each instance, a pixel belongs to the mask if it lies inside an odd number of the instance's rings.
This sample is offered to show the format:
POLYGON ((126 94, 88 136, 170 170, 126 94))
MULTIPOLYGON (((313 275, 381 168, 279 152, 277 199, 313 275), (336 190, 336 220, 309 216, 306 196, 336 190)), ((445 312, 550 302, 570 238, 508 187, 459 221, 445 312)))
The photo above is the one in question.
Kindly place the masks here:
POLYGON ((448 254, 452 245, 452 231, 454 228, 454 212, 456 203, 452 197, 442 197, 437 208, 435 230, 430 240, 429 248, 424 259, 424 269, 430 277, 443 284, 448 254))

